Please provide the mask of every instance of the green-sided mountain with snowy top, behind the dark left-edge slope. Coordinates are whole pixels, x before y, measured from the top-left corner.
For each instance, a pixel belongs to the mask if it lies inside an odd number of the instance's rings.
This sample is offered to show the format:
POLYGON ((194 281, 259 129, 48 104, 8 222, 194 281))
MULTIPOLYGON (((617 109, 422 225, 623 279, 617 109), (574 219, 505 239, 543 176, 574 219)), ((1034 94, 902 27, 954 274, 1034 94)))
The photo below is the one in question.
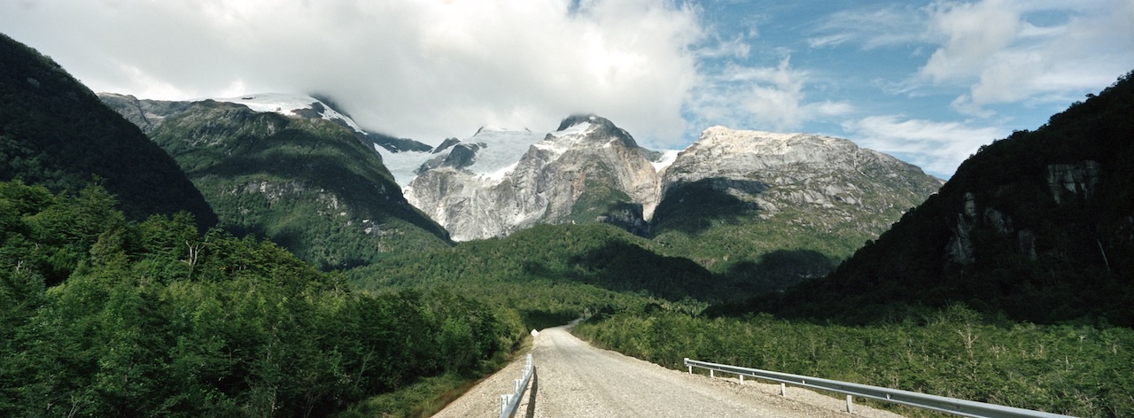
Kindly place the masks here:
POLYGON ((238 233, 322 268, 448 246, 447 232, 406 202, 370 134, 316 99, 102 99, 172 155, 238 233))

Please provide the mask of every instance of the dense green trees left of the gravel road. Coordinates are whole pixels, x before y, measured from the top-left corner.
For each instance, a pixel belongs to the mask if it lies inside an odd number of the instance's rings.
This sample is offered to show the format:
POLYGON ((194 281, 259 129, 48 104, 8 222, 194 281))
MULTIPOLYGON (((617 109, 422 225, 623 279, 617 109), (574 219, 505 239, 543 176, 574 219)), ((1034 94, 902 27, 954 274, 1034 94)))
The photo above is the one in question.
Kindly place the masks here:
POLYGON ((483 373, 523 335, 514 312, 354 291, 271 242, 113 205, 0 184, 0 416, 327 416, 483 373))

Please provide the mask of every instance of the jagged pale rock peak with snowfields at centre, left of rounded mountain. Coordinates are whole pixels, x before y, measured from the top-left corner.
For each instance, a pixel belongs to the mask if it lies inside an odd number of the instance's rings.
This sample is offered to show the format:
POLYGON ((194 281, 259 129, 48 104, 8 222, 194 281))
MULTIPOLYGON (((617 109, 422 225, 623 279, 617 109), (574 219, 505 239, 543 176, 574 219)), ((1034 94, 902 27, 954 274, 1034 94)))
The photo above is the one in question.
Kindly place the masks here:
POLYGON ((456 240, 539 223, 613 223, 645 233, 658 176, 634 138, 607 119, 576 116, 547 135, 482 129, 446 144, 407 198, 456 240))

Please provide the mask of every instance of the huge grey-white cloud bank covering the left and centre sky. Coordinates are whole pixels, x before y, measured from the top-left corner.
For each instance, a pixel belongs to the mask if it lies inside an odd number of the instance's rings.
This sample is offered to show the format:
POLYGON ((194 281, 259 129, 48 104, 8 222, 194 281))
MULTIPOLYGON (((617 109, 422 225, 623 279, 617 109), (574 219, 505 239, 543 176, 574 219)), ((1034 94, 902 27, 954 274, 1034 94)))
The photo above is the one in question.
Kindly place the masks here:
POLYGON ((28 1, 0 6, 0 25, 96 91, 318 92, 366 128, 431 143, 595 112, 671 143, 701 83, 697 14, 648 0, 28 1))

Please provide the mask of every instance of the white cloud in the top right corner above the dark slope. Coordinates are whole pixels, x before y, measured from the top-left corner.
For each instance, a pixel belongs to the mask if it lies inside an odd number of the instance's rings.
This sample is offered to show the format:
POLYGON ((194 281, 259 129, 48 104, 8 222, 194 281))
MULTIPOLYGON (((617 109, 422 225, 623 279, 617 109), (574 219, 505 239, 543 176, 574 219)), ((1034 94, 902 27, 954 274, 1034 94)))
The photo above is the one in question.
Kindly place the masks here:
POLYGON ((989 105, 1066 102, 1134 68, 1134 0, 939 2, 930 8, 940 42, 921 77, 968 86, 953 108, 993 114, 989 105), (1047 25, 1031 19, 1063 16, 1047 25))

